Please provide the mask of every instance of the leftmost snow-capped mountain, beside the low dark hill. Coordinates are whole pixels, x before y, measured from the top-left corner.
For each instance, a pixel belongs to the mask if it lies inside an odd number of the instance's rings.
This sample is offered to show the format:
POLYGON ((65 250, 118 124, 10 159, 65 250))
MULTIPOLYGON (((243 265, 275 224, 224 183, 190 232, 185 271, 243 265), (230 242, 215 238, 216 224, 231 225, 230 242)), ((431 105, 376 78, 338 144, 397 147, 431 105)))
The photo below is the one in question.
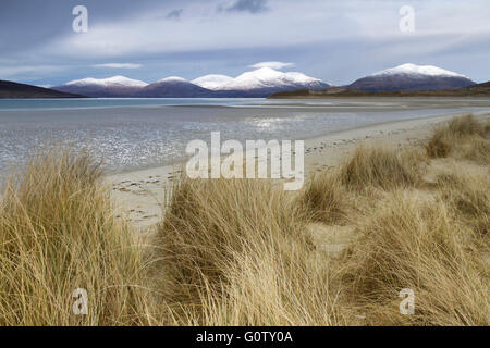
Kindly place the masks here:
POLYGON ((83 78, 71 80, 64 85, 52 87, 54 90, 78 94, 87 97, 132 97, 142 88, 148 86, 143 80, 125 76, 109 78, 83 78))

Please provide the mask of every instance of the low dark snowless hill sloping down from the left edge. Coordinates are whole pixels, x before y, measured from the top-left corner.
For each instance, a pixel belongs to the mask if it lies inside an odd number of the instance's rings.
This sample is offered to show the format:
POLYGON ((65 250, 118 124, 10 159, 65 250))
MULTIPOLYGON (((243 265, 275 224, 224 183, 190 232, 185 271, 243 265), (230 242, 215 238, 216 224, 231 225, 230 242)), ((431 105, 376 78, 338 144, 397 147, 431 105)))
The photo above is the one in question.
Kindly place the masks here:
POLYGON ((0 80, 0 98, 84 98, 49 88, 0 80))

